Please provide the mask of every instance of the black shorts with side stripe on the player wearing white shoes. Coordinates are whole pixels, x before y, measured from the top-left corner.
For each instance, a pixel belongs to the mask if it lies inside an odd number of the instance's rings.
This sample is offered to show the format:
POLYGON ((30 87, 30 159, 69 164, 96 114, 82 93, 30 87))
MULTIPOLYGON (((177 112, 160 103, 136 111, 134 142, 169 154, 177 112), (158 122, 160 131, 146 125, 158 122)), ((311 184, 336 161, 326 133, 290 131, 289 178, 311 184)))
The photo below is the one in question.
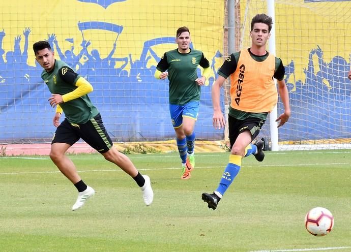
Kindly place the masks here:
POLYGON ((102 123, 100 113, 82 124, 70 123, 65 118, 57 127, 51 144, 67 143, 72 146, 80 138, 100 153, 107 152, 112 148, 111 138, 102 123))

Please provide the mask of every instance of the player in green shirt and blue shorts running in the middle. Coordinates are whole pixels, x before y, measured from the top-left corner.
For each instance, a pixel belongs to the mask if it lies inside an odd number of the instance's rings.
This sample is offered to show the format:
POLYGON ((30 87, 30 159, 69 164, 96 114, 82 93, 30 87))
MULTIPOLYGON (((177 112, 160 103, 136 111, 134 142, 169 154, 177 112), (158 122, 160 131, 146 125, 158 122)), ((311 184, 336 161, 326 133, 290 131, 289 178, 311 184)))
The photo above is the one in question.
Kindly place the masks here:
POLYGON ((165 52, 158 63, 155 78, 169 80, 169 112, 179 154, 182 179, 189 179, 195 166, 195 121, 200 105, 200 88, 208 79, 211 68, 203 53, 190 48, 190 31, 183 26, 177 30, 178 48, 165 52), (203 68, 200 78, 197 67, 203 68), (168 72, 166 72, 168 70, 168 72))

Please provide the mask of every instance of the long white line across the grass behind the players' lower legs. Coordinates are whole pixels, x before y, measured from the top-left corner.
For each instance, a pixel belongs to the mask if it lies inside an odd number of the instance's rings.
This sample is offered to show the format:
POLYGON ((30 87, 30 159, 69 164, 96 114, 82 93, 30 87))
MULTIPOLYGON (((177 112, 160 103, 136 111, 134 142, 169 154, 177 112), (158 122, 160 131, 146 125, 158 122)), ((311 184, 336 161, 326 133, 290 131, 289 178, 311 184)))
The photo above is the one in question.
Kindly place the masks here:
MULTIPOLYGON (((350 163, 330 163, 330 164, 296 164, 296 165, 279 165, 283 167, 296 167, 296 166, 330 166, 330 165, 349 165, 350 163)), ((277 165, 258 165, 258 166, 245 166, 245 167, 274 167, 277 165)), ((196 169, 214 169, 221 168, 222 166, 202 166, 196 167, 196 169)), ((160 171, 160 170, 180 170, 179 167, 168 167, 168 168, 138 168, 139 171, 160 171)), ((121 172, 122 169, 108 169, 108 170, 83 170, 78 172, 121 172)), ((60 171, 33 171, 33 172, 0 172, 0 175, 16 175, 16 174, 43 174, 43 173, 60 173, 60 171)))

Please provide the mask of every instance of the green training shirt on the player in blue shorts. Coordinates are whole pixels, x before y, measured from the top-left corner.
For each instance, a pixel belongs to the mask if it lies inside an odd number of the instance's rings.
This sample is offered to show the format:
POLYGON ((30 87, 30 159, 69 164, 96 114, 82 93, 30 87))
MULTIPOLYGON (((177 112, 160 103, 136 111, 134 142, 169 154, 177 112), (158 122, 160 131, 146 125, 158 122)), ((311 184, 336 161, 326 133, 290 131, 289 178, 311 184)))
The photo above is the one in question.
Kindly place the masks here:
POLYGON ((157 70, 168 69, 169 103, 185 105, 200 101, 200 86, 196 84, 197 66, 209 68, 210 63, 203 53, 190 49, 188 53, 180 53, 178 49, 165 52, 157 65, 157 70))

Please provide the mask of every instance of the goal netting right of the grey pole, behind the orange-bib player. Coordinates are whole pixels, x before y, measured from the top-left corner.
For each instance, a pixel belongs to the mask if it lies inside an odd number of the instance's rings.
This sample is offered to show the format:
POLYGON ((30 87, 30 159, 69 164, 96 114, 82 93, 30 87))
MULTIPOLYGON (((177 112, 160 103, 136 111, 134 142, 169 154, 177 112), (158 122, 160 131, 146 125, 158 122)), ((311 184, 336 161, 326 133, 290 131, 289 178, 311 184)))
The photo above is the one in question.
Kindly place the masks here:
MULTIPOLYGON (((248 48, 251 19, 268 13, 267 1, 237 1, 236 7, 238 46, 248 48)), ((291 106, 278 130, 279 149, 351 148, 351 1, 277 0, 274 23, 291 106)), ((283 113, 280 101, 277 107, 283 113)), ((269 129, 268 118, 260 136, 270 139, 269 129)))

